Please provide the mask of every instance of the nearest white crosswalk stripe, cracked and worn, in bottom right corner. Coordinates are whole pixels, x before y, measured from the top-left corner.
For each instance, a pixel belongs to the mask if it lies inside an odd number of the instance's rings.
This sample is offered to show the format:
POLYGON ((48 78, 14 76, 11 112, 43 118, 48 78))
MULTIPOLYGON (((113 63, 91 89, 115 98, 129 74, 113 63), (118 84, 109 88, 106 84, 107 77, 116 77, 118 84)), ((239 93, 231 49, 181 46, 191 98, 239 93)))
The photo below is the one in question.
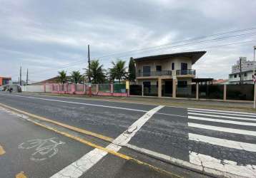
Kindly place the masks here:
MULTIPOLYGON (((189 160, 192 164, 197 164, 207 169, 217 169, 222 172, 230 172, 231 174, 236 174, 237 176, 232 177, 256 177, 256 165, 239 165, 237 162, 230 160, 220 160, 215 157, 210 157, 209 155, 202 155, 197 152, 189 152, 189 160), (225 164, 223 164, 225 163, 225 164)), ((223 174, 223 177, 227 175, 223 174)))

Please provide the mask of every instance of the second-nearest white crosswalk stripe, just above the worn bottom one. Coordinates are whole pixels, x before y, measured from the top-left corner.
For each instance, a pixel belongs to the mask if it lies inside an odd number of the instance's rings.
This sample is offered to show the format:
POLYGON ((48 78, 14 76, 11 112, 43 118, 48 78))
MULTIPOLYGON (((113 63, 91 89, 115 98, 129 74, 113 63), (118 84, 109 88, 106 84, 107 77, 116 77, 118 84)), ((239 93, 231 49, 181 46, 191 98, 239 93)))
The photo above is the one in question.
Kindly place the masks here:
POLYGON ((238 150, 246 150, 249 152, 256 152, 256 145, 251 143, 246 143, 246 142, 237 142, 237 141, 225 140, 225 139, 216 138, 216 137, 208 137, 205 135, 197 135, 192 133, 189 133, 189 140, 207 142, 212 145, 230 147, 238 150))

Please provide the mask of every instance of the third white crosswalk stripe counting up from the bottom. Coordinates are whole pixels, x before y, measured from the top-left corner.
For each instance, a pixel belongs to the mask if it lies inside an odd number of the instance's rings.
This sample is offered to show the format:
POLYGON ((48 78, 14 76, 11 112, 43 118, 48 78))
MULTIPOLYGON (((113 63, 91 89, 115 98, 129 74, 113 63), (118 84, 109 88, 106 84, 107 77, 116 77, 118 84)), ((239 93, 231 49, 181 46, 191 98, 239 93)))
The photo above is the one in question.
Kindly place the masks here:
POLYGON ((202 125, 202 124, 195 124, 188 122, 189 127, 197 127, 201 129, 207 129, 207 130, 216 130, 221 132, 230 132, 230 133, 237 133, 242 135, 252 135, 256 136, 256 132, 250 131, 250 130, 240 130, 240 129, 232 129, 227 127, 217 127, 217 126, 211 126, 211 125, 202 125))

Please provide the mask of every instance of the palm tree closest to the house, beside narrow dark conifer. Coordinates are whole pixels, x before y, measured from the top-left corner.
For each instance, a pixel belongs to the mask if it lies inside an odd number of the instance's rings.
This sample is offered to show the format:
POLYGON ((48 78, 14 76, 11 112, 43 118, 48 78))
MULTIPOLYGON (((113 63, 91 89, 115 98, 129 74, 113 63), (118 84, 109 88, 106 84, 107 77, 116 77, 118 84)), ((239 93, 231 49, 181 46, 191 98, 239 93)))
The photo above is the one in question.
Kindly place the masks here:
POLYGON ((109 75, 112 80, 117 79, 119 83, 122 79, 127 78, 125 61, 117 59, 117 62, 112 61, 112 68, 109 68, 109 75))

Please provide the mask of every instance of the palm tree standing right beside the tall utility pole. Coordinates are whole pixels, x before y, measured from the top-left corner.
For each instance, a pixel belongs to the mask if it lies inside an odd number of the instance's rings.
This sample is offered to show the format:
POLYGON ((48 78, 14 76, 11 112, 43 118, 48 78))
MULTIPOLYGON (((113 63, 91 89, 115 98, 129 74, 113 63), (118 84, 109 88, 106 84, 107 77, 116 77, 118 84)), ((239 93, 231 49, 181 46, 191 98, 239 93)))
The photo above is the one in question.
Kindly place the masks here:
POLYGON ((91 61, 90 71, 86 68, 85 75, 88 77, 91 76, 92 83, 104 83, 106 80, 105 70, 103 69, 103 65, 99 64, 99 60, 91 61))

